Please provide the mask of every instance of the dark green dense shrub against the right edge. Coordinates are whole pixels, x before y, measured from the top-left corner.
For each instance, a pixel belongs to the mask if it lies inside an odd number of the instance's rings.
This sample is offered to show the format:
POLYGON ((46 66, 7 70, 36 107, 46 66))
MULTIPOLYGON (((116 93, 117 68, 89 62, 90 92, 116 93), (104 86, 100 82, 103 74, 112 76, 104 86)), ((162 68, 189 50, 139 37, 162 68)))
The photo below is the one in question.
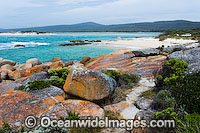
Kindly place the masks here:
POLYGON ((188 113, 200 113, 200 71, 178 79, 170 91, 188 113))

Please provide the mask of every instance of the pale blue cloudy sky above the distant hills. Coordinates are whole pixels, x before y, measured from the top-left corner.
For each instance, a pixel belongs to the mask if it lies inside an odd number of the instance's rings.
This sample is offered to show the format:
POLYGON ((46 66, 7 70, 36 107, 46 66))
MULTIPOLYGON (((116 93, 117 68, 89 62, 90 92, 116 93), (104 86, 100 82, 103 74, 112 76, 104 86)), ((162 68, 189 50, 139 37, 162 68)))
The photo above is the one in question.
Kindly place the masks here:
POLYGON ((200 21, 200 0, 0 0, 0 28, 200 21))

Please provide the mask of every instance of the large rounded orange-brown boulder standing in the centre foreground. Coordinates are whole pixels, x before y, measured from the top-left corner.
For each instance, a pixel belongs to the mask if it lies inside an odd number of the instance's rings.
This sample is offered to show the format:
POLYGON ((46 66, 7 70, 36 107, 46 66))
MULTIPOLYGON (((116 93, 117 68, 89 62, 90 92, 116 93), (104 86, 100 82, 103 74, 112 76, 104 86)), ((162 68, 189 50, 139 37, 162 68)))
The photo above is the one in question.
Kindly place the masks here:
POLYGON ((102 100, 113 94, 116 81, 106 74, 85 68, 76 63, 72 66, 64 85, 66 93, 87 100, 102 100))

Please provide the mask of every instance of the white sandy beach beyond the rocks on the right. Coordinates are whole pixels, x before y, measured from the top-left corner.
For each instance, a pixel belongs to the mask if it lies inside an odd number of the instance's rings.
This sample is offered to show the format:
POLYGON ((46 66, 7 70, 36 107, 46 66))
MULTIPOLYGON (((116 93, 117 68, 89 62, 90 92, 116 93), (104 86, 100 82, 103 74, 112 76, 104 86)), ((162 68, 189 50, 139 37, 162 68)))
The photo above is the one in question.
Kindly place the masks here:
POLYGON ((98 45, 107 45, 112 47, 119 48, 132 48, 132 49, 141 49, 141 48, 157 48, 164 45, 165 47, 178 44, 187 44, 196 42, 194 40, 183 40, 183 39, 166 39, 164 41, 159 41, 159 39, 154 38, 131 38, 131 39, 116 39, 111 41, 103 41, 98 43, 98 45))

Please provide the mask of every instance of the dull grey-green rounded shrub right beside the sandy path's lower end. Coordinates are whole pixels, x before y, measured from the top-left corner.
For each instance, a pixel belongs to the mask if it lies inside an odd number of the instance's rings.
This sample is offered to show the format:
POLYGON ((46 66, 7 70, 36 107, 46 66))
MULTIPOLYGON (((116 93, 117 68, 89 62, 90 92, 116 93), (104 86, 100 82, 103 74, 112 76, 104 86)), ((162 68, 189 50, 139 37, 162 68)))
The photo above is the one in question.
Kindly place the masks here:
POLYGON ((158 110, 163 110, 166 108, 174 108, 176 105, 176 101, 174 97, 172 97, 171 93, 167 90, 161 90, 154 97, 153 108, 158 110))

